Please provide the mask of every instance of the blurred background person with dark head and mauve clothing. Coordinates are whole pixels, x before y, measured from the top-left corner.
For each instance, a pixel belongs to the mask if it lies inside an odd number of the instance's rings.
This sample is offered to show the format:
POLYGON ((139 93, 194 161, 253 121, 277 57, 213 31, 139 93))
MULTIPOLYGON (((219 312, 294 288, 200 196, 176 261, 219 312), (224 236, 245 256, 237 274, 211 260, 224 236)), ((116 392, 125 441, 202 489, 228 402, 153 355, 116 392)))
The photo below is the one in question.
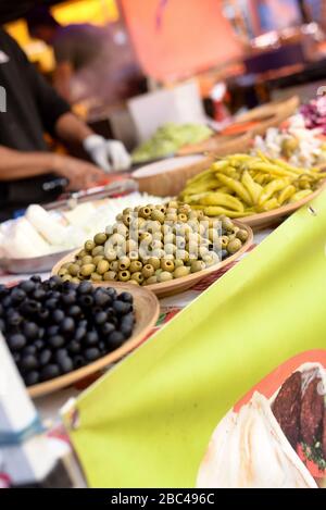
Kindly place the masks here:
POLYGON ((53 48, 57 91, 90 111, 139 92, 141 72, 122 23, 61 25, 45 5, 26 15, 29 35, 53 48))

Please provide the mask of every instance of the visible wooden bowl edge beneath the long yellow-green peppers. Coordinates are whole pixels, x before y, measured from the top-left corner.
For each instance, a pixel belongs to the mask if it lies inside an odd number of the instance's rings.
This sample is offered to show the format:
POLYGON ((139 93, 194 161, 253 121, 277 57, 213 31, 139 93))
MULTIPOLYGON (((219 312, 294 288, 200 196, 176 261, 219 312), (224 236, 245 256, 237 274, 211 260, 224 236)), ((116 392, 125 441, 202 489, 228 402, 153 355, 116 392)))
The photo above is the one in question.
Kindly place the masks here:
POLYGON ((251 226, 253 229, 261 229, 266 228, 267 226, 275 225, 276 223, 281 223, 287 216, 296 212, 302 206, 305 206, 311 200, 313 200, 323 189, 326 188, 326 182, 322 184, 322 186, 316 189, 314 192, 309 195, 308 197, 299 200, 294 203, 289 203, 288 206, 284 206, 281 208, 275 209, 274 211, 262 212, 260 214, 253 214, 251 216, 246 216, 240 219, 241 223, 251 226))

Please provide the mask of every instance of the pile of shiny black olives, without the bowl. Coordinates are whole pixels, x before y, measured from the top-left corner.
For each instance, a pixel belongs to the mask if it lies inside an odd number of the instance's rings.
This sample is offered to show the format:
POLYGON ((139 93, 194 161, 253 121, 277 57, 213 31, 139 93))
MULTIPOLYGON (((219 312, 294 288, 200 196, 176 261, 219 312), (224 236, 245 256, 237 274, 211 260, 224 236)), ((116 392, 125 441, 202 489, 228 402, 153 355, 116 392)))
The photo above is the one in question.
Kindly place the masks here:
POLYGON ((58 377, 121 347, 135 324, 133 296, 39 276, 0 286, 0 331, 26 386, 58 377))

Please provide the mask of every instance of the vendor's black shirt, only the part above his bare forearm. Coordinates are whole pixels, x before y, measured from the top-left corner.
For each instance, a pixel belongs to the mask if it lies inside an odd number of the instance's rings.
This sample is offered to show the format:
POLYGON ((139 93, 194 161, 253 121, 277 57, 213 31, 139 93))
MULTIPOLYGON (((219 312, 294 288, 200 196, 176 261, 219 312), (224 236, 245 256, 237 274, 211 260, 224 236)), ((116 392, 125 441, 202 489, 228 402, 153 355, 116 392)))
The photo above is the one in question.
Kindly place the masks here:
POLYGON ((7 91, 7 112, 0 113, 0 145, 22 151, 47 150, 43 133, 54 134, 58 119, 70 105, 0 29, 0 86, 7 91))

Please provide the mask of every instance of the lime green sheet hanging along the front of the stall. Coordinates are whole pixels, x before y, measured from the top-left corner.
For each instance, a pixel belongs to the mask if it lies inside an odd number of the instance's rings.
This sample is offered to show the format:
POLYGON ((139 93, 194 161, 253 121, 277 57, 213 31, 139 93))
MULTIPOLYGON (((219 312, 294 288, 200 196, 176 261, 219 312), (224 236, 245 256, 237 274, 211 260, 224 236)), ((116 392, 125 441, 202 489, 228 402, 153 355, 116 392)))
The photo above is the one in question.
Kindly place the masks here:
POLYGON ((92 487, 192 487, 217 422, 268 372, 326 347, 326 192, 78 398, 92 487))

